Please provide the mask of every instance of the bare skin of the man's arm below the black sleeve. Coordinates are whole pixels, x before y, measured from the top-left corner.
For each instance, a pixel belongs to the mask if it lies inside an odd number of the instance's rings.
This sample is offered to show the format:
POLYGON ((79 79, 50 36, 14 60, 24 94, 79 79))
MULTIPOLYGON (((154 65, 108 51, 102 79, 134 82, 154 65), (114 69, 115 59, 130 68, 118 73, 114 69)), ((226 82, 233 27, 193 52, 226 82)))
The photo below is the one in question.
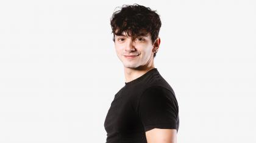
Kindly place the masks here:
POLYGON ((146 131, 146 139, 148 143, 177 143, 177 130, 154 128, 146 131))

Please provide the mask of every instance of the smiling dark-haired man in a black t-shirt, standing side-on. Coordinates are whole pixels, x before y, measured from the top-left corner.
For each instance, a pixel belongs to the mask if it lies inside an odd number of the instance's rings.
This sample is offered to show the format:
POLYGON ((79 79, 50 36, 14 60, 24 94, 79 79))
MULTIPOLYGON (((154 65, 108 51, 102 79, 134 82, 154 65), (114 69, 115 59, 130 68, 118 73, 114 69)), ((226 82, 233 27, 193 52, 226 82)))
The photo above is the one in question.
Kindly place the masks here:
POLYGON ((143 5, 123 5, 110 24, 126 82, 105 118, 107 143, 177 142, 179 106, 171 86, 154 67, 159 15, 143 5))

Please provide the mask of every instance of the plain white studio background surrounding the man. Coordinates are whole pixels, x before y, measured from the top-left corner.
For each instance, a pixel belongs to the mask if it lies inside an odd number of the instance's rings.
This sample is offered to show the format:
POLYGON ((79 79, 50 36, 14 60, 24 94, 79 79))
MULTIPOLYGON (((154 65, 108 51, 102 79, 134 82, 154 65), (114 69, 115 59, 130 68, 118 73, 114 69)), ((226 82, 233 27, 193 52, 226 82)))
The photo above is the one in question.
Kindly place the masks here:
POLYGON ((105 142, 125 82, 110 16, 134 3, 162 20, 178 142, 256 142, 253 0, 0 1, 0 142, 105 142))

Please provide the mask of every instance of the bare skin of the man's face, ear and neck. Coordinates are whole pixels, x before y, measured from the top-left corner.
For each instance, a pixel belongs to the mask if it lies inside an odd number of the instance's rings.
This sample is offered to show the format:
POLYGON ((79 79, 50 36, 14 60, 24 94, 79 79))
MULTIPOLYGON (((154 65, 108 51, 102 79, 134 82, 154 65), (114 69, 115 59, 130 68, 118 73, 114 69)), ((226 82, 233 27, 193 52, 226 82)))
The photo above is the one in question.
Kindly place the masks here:
POLYGON ((115 49, 119 60, 124 66, 126 82, 130 82, 154 67, 154 51, 158 50, 160 38, 152 44, 151 35, 129 37, 127 33, 115 35, 115 49), (127 58, 126 55, 137 55, 127 58))

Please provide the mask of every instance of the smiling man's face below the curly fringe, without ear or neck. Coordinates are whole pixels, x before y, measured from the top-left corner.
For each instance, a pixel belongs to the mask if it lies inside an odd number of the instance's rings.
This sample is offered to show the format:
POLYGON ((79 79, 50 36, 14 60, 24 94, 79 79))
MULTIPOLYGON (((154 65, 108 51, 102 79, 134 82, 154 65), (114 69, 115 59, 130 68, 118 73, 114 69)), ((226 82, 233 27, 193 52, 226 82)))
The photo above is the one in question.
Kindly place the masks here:
POLYGON ((115 35, 116 54, 125 68, 138 68, 152 63, 153 48, 151 35, 129 37, 127 33, 115 35))

